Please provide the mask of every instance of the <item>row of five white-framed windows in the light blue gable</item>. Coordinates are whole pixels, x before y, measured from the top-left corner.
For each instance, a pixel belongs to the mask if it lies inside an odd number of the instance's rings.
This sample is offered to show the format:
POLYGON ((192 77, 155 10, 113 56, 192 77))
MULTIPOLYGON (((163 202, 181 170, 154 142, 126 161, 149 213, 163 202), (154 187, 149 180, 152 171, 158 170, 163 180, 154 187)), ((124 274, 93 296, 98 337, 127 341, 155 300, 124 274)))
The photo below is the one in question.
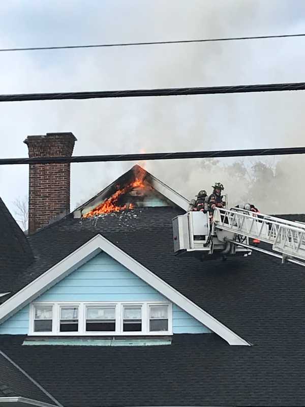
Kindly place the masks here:
POLYGON ((172 304, 158 301, 33 303, 29 335, 146 336, 172 334, 172 304))

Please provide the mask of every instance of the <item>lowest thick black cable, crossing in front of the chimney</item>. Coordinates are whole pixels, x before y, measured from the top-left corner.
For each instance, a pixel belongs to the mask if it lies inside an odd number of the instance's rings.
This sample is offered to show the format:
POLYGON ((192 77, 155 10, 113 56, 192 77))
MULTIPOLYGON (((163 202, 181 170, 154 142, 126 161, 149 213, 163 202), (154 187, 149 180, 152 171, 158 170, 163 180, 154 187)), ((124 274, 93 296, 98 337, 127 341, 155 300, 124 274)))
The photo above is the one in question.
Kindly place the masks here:
POLYGON ((97 156, 75 157, 39 157, 39 158, 2 158, 0 165, 8 164, 50 164, 75 162, 108 162, 108 161, 144 161, 144 160, 181 160, 190 158, 221 158, 221 157, 250 157, 277 156, 289 154, 305 154, 305 147, 291 147, 281 149, 254 150, 218 150, 218 151, 190 151, 181 153, 144 153, 144 154, 111 154, 97 156))

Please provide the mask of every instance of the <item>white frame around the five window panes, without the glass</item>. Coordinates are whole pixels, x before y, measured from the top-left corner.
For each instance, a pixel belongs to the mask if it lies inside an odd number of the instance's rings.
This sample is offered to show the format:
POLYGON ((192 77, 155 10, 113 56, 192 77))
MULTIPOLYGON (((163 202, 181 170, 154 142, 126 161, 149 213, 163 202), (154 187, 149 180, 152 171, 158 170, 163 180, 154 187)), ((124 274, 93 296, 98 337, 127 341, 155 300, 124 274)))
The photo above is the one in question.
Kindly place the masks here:
POLYGON ((33 302, 29 307, 29 330, 31 336, 156 336, 172 335, 172 303, 165 301, 60 301, 33 302), (52 305, 52 332, 34 332, 35 305, 52 305), (168 306, 168 331, 149 331, 149 305, 168 306), (78 306, 78 332, 60 332, 60 307, 78 306), (86 331, 86 307, 115 307, 115 331, 86 331), (142 306, 142 331, 123 331, 124 306, 142 306))

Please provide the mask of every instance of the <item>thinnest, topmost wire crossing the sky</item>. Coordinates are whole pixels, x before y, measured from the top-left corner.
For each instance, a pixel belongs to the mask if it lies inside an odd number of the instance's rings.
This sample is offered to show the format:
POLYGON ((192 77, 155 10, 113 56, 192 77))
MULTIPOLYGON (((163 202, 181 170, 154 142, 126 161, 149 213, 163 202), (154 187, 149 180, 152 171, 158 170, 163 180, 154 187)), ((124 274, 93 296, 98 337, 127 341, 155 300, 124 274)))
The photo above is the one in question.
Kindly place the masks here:
POLYGON ((283 34, 283 35, 260 35, 253 37, 230 37, 230 38, 206 38, 199 40, 178 40, 178 41, 150 41, 150 42, 126 42, 115 44, 93 44, 93 45, 60 45, 51 47, 26 47, 26 48, 2 48, 0 52, 9 51, 41 51, 51 49, 75 49, 75 48, 106 48, 106 47, 129 47, 135 45, 160 45, 160 44, 190 44, 198 42, 220 42, 220 41, 240 41, 240 40, 265 40, 271 38, 291 38, 305 37, 305 34, 283 34))

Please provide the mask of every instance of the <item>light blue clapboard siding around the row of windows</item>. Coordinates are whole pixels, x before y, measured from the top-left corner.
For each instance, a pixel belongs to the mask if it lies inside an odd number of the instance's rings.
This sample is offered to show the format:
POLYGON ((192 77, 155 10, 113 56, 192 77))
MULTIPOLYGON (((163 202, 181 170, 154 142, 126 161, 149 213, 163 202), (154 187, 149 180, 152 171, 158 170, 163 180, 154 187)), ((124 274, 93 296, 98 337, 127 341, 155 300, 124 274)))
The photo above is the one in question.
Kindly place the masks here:
MULTIPOLYGON (((48 289, 36 301, 166 301, 166 298, 106 253, 100 253, 48 289)), ((0 334, 27 334, 29 306, 2 325, 0 334)), ((210 330, 173 304, 173 333, 210 330)))

